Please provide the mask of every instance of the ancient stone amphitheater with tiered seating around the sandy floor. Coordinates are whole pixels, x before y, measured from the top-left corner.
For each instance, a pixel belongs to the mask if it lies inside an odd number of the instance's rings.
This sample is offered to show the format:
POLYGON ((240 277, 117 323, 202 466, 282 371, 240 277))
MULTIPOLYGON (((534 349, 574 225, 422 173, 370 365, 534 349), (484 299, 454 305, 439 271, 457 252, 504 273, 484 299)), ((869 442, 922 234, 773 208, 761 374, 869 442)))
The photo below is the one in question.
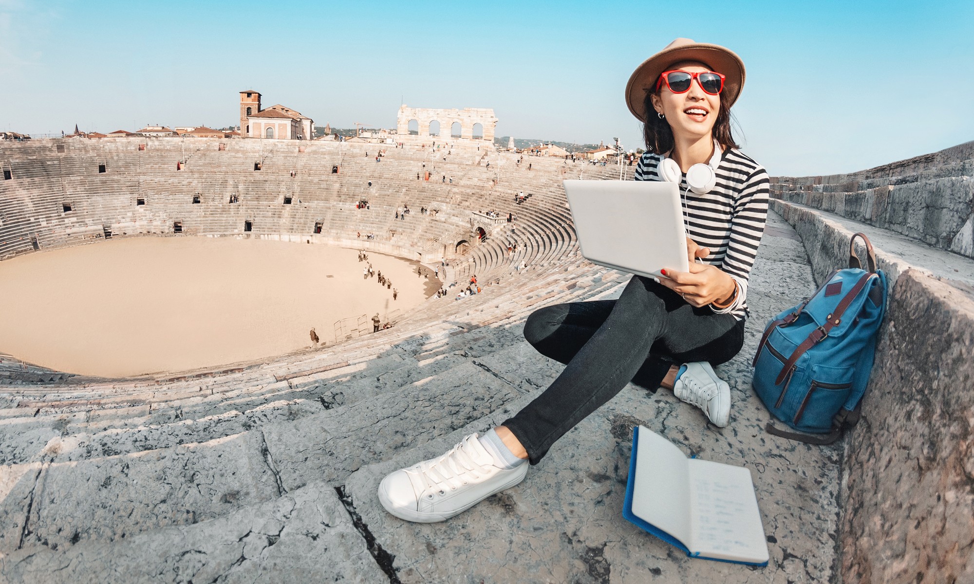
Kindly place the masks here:
MULTIPOLYGON (((631 178, 631 167, 515 164, 489 143, 390 146, 381 162, 377 145, 324 141, 0 145, 4 263, 126 239, 267 239, 426 270, 445 260, 445 284, 476 274, 482 287, 462 300, 424 291, 378 333, 353 318, 323 346, 153 375, 81 375, 0 347, 11 353, 0 362, 0 581, 974 582, 974 142, 772 178, 745 346, 717 368, 731 383, 727 428, 630 384, 517 487, 442 524, 386 514, 375 495, 386 473, 506 419, 561 371, 522 338, 532 310, 614 298, 628 279, 581 258, 561 183, 631 178), (518 192, 530 197, 518 204, 518 192), (412 212, 396 219, 404 203, 412 212), (864 419, 833 446, 777 438, 750 385, 758 338, 847 265, 856 232, 891 283, 864 419), (767 567, 689 559, 622 519, 637 423, 751 470, 767 567)), ((123 272, 103 286, 130 283, 123 272)), ((38 311, 4 301, 0 326, 50 321, 38 311)), ((94 332, 73 342, 109 347, 94 332)))

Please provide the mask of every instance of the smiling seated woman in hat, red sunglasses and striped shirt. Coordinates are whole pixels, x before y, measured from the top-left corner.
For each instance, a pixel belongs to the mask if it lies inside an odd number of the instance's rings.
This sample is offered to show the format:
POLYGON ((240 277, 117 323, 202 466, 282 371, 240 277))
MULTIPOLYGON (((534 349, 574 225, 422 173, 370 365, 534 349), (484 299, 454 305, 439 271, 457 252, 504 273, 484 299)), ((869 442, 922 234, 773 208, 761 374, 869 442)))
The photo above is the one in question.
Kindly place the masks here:
POLYGON ((618 300, 532 313, 525 338, 565 370, 502 425, 388 475, 379 500, 390 513, 443 521, 520 483, 529 461, 538 464, 630 381, 672 387, 716 425, 727 425, 730 388, 710 363, 730 360, 743 345, 747 281, 768 214, 768 173, 731 136, 730 108, 743 84, 740 57, 690 39, 673 41, 636 68, 626 104, 644 124, 647 149, 636 179, 680 183, 689 272, 634 275, 618 300))

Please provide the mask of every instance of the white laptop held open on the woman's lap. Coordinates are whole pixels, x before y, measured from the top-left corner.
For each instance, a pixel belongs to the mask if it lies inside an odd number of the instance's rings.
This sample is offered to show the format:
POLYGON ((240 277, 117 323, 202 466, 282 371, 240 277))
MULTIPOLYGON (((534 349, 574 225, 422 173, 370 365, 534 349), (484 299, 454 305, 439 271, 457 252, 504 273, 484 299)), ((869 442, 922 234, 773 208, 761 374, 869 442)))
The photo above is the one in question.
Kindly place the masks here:
POLYGON ((586 260, 647 277, 690 270, 676 183, 566 180, 565 194, 586 260))

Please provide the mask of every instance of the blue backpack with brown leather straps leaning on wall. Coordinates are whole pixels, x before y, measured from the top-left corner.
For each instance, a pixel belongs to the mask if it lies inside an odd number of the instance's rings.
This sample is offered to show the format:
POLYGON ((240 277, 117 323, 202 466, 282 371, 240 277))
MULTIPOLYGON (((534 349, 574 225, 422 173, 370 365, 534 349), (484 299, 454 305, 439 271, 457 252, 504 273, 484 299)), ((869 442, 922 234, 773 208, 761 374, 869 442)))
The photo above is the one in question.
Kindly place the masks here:
POLYGON ((885 312, 886 275, 876 269, 869 238, 849 241, 849 267, 835 270, 797 307, 768 322, 754 355, 752 384, 775 418, 809 436, 774 427, 768 433, 832 444, 859 420, 859 406, 885 312), (854 249, 866 244, 869 270, 854 249), (824 434, 824 435, 822 435, 824 434))

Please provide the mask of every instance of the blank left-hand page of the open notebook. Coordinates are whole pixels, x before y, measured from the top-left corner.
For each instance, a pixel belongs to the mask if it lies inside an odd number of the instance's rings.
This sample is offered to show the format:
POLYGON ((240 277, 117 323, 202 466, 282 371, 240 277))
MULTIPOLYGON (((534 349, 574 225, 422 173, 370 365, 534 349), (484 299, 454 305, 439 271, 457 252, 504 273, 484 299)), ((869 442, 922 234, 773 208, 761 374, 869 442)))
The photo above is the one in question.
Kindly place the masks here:
POLYGON ((632 512, 690 547, 688 461, 676 445, 639 426, 632 512))

